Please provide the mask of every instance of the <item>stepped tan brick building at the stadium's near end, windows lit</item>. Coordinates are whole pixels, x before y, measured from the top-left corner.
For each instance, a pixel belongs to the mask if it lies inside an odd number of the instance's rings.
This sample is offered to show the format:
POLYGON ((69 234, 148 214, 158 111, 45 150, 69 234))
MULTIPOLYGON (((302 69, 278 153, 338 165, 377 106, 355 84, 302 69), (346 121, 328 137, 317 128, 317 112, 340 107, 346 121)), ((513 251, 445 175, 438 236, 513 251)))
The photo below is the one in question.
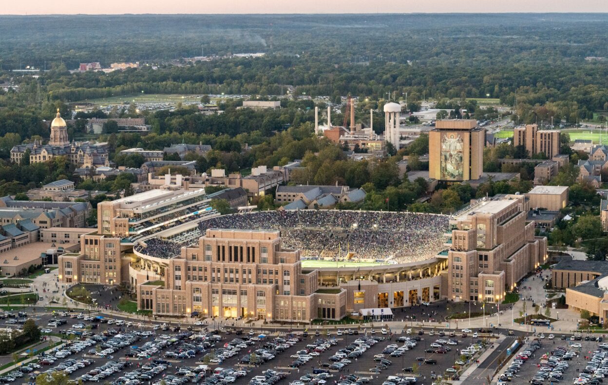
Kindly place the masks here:
POLYGON ((283 249, 278 231, 209 229, 168 261, 164 280, 137 285, 140 309, 158 315, 244 317, 309 322, 346 315, 346 291, 319 289, 300 251, 283 249))

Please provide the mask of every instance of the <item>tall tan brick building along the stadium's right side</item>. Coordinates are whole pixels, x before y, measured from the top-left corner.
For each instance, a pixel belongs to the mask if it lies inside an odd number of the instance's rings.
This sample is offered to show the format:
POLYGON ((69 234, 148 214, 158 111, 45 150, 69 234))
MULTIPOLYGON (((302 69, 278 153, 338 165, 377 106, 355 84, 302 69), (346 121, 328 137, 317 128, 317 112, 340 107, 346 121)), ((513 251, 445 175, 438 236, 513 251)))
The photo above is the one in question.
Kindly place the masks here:
POLYGON ((534 237, 523 195, 482 199, 450 221, 447 297, 500 303, 506 291, 547 260, 547 238, 534 237))

